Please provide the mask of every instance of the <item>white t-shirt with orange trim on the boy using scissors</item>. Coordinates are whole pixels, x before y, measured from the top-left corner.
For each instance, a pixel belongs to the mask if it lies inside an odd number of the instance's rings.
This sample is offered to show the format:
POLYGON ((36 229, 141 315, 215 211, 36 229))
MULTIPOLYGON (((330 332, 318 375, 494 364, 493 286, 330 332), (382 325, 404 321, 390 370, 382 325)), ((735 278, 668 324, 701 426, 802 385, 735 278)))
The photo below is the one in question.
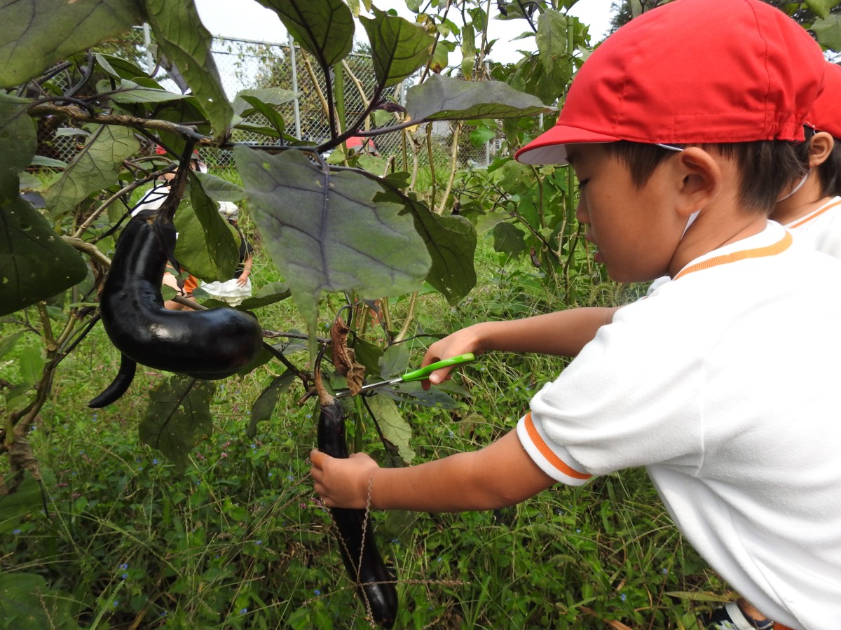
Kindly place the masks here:
POLYGON ((534 396, 526 452, 571 485, 646 466, 681 532, 760 611, 837 625, 838 287, 841 261, 773 222, 694 260, 534 396))

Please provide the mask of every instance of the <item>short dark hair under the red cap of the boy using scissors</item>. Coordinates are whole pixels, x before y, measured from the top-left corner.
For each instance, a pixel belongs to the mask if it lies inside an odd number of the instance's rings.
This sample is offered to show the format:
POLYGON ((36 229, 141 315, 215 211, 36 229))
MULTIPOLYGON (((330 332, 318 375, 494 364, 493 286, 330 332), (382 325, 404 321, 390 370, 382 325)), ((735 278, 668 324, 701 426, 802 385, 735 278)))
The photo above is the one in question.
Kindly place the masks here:
MULTIPOLYGON (((804 166, 799 150, 802 144, 808 145, 787 140, 756 140, 698 146, 727 160, 733 160, 739 171, 738 200, 750 211, 767 214, 774 209, 788 182, 806 173, 807 166, 804 166)), ((616 156, 627 165, 631 172, 631 181, 637 188, 645 185, 664 160, 675 155, 674 150, 657 144, 629 140, 608 142, 603 146, 608 155, 616 156)))

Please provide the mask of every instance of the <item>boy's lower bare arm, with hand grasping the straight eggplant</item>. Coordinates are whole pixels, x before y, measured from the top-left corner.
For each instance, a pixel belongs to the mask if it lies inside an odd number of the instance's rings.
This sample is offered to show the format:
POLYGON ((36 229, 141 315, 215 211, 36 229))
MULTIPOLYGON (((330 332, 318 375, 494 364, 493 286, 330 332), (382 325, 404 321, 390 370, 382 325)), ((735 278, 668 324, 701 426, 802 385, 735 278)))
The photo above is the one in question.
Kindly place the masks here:
POLYGON ((525 501, 555 483, 522 448, 516 431, 484 449, 407 468, 379 468, 367 454, 309 455, 310 475, 329 507, 415 512, 491 510, 525 501))

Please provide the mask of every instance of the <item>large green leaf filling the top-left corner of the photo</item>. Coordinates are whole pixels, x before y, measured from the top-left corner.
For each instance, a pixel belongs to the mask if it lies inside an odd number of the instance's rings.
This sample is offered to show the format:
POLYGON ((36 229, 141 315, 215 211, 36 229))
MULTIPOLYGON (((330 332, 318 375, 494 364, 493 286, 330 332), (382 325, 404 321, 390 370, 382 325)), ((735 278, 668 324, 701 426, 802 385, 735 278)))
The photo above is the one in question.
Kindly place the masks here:
POLYGON ((135 0, 0 0, 0 87, 145 22, 135 0))

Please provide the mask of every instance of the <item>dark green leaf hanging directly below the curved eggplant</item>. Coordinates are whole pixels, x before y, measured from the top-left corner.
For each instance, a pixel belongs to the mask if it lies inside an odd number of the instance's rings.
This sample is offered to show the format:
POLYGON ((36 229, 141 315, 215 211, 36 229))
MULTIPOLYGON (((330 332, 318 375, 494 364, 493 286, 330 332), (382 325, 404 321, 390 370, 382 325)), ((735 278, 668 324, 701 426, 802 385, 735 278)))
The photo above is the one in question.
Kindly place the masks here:
POLYGON ((149 392, 149 406, 140 421, 140 442, 167 455, 183 469, 195 445, 213 433, 210 401, 216 386, 173 375, 149 392))

